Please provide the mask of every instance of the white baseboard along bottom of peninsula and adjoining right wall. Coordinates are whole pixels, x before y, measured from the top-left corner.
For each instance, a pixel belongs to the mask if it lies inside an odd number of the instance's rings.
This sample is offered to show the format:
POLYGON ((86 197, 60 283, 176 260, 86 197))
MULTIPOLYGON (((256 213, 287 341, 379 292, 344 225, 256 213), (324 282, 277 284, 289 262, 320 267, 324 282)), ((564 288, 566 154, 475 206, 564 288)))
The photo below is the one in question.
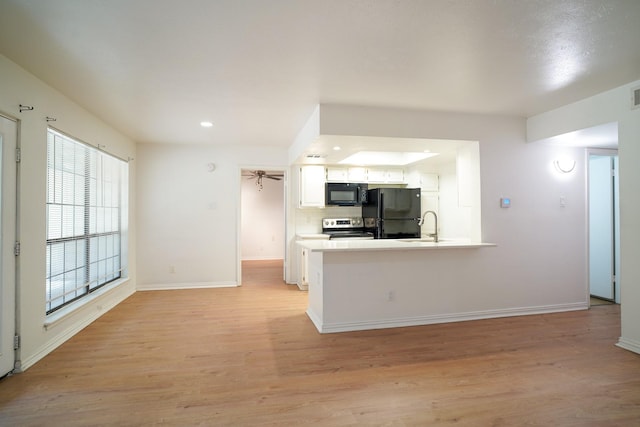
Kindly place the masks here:
POLYGON ((307 310, 307 316, 309 316, 313 324, 316 326, 318 332, 324 334, 332 332, 364 331, 369 329, 400 328, 437 323, 464 322, 468 320, 494 319, 499 317, 528 316, 532 314, 547 314, 587 309, 589 309, 589 303, 584 302, 344 323, 322 323, 320 318, 311 310, 307 310))

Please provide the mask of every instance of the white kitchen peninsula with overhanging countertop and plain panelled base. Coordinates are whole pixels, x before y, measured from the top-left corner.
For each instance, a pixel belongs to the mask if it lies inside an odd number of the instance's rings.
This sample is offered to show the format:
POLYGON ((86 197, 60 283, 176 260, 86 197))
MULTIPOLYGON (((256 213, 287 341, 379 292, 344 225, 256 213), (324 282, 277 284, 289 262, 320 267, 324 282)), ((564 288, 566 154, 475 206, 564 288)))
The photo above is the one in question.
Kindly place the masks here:
POLYGON ((491 243, 420 239, 300 241, 307 315, 321 333, 497 317, 479 311, 474 272, 491 243))

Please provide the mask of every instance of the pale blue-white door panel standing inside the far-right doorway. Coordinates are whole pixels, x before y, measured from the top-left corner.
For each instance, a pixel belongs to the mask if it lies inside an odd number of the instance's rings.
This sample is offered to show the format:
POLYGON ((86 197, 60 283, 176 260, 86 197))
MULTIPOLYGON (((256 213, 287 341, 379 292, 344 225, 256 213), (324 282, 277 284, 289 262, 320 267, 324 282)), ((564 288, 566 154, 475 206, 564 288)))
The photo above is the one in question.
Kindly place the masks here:
POLYGON ((591 295, 615 299, 614 158, 589 155, 589 289, 591 295))

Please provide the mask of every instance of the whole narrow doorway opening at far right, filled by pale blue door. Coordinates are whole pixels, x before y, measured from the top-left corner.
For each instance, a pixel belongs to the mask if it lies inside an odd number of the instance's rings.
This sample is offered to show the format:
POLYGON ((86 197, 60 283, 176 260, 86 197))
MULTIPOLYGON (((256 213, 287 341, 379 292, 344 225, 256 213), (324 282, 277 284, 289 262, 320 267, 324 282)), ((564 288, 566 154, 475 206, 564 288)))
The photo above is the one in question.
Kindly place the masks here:
POLYGON ((589 293, 620 304, 617 150, 588 150, 589 293))

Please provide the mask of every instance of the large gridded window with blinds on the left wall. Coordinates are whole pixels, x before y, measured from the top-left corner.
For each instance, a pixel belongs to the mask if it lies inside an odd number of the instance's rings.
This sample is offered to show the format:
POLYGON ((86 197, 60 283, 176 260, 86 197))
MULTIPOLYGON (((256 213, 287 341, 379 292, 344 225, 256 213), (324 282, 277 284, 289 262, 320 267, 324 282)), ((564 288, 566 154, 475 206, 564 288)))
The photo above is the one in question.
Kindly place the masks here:
POLYGON ((47 132, 46 312, 122 275, 126 162, 47 132))

